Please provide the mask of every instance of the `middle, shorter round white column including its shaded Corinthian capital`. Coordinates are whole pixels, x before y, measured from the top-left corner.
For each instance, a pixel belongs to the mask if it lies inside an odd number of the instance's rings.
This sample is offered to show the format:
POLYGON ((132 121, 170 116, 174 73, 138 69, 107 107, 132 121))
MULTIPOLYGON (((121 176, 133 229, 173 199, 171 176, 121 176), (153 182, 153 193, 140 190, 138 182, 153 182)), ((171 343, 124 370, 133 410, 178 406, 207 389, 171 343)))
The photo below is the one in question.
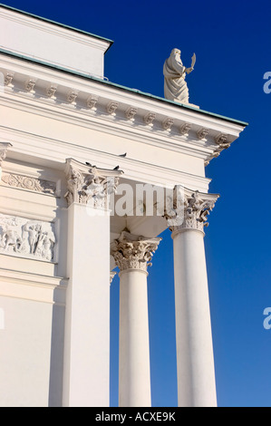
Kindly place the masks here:
POLYGON ((120 407, 151 406, 147 266, 160 239, 123 231, 111 245, 120 268, 120 407))

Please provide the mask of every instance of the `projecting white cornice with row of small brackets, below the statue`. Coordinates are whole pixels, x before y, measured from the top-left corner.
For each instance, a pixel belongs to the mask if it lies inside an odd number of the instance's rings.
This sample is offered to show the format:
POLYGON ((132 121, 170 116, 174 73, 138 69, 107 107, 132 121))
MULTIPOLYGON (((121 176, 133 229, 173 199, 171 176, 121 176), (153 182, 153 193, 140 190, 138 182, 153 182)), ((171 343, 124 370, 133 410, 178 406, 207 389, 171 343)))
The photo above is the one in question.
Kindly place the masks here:
POLYGON ((94 79, 86 81, 78 75, 4 54, 0 57, 6 84, 1 102, 13 102, 13 106, 25 111, 81 122, 90 128, 94 125, 95 129, 98 125, 102 131, 129 132, 134 138, 147 137, 158 143, 163 140, 167 149, 185 150, 207 163, 244 129, 241 124, 198 115, 197 111, 157 102, 94 79), (219 143, 221 135, 223 143, 219 143))

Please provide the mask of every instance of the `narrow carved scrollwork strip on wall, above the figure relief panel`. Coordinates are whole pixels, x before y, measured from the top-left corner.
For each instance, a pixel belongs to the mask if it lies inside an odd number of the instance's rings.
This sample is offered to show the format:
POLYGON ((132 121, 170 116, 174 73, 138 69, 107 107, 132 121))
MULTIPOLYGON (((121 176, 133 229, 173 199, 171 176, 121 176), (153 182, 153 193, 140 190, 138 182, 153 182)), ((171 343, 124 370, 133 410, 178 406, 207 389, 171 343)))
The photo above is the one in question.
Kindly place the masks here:
POLYGON ((17 173, 2 173, 2 181, 9 187, 43 192, 44 194, 55 195, 55 182, 37 179, 30 176, 23 176, 17 173))

